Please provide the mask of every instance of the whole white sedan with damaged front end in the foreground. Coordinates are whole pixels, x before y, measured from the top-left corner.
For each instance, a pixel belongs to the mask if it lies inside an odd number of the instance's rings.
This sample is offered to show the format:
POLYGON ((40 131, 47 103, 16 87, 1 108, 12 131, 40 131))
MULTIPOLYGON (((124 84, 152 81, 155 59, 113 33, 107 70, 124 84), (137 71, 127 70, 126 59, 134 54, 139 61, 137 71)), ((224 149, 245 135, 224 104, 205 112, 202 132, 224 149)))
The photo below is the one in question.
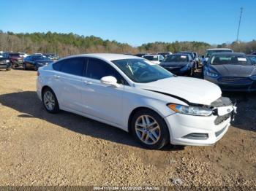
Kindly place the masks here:
POLYGON ((236 112, 217 85, 176 77, 132 55, 62 58, 39 68, 37 95, 50 113, 61 109, 105 122, 150 149, 214 144, 236 112))

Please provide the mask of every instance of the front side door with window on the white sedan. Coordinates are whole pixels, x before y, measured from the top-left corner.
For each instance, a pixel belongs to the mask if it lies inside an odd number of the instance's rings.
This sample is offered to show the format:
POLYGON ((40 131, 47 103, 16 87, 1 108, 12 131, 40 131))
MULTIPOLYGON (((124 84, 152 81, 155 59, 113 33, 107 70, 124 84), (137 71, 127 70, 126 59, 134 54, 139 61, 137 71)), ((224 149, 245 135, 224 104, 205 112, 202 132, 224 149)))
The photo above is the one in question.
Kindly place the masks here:
POLYGON ((105 61, 89 58, 83 81, 81 88, 83 112, 108 122, 121 124, 124 79, 116 69, 105 61), (116 77, 120 87, 102 84, 100 79, 106 76, 116 77))

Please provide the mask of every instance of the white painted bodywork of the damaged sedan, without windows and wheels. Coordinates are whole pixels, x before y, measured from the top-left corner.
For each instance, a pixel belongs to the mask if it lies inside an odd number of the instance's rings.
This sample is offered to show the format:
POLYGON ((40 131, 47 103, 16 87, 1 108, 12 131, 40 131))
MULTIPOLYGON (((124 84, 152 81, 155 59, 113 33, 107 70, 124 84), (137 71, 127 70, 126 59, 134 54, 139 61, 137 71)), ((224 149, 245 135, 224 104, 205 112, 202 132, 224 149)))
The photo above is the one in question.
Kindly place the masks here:
MULTIPOLYGON (((131 55, 87 54, 77 55, 99 58, 113 66, 129 85, 113 87, 103 85, 100 80, 78 77, 54 71, 52 65, 39 68, 37 78, 37 95, 42 101, 42 88, 50 87, 56 94, 62 110, 80 114, 99 122, 105 122, 122 130, 129 131, 129 117, 135 109, 148 108, 157 112, 166 122, 171 144, 210 145, 221 139, 230 126, 230 117, 218 125, 214 124, 217 115, 208 117, 178 114, 167 107, 167 104, 209 106, 221 97, 217 85, 203 79, 191 77, 170 77, 156 82, 132 82, 118 67, 112 63, 119 59, 143 59, 131 55), (218 130, 223 130, 215 136, 218 130), (208 133, 207 140, 184 139, 189 133, 208 133)), ((73 56, 75 57, 75 56, 73 56)), ((69 57, 72 58, 72 57, 69 57)), ((61 60, 59 60, 61 61, 61 60)), ((225 108, 227 110, 227 108, 225 108)), ((226 114, 225 109, 220 109, 226 114)), ((234 107, 228 107, 232 112, 234 107)))

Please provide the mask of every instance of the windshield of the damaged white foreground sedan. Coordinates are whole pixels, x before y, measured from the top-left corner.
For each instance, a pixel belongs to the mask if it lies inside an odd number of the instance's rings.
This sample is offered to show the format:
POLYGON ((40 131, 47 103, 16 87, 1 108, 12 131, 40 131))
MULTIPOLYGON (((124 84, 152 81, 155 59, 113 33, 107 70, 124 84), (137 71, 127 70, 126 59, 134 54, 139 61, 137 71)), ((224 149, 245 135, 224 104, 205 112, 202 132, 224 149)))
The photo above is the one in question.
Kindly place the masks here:
POLYGON ((173 77, 173 74, 161 66, 143 59, 124 59, 112 62, 133 82, 146 83, 173 77))

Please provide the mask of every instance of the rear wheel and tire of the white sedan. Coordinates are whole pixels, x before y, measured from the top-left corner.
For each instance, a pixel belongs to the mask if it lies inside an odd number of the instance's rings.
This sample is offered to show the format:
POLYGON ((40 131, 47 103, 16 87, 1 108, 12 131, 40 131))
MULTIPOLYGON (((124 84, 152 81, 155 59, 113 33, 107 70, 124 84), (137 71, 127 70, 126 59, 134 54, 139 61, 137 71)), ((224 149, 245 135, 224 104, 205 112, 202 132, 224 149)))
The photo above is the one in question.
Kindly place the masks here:
POLYGON ((45 88, 42 92, 42 104, 47 112, 56 114, 59 112, 59 102, 55 93, 50 88, 45 88))

